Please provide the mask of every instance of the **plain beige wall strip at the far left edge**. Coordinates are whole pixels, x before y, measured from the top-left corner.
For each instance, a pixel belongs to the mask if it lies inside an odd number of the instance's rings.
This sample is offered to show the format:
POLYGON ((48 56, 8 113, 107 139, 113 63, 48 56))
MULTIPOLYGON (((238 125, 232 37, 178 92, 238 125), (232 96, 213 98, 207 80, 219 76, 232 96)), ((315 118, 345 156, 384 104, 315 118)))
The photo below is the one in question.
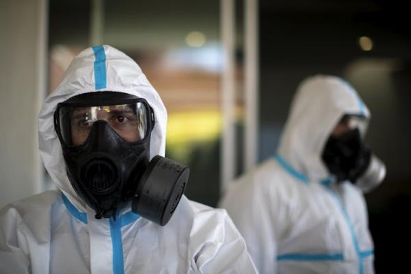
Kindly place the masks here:
POLYGON ((0 1, 0 207, 43 189, 37 115, 46 90, 47 1, 0 1))

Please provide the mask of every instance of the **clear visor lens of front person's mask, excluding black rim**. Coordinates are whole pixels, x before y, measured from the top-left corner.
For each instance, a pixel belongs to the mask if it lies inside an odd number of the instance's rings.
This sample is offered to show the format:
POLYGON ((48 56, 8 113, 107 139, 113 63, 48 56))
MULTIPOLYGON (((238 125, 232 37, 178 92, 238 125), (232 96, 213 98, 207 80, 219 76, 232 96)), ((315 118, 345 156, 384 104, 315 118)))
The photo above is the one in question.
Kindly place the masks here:
POLYGON ((136 142, 147 134, 147 116, 147 107, 142 102, 87 107, 62 106, 58 123, 66 145, 83 145, 96 121, 107 122, 125 141, 136 142))

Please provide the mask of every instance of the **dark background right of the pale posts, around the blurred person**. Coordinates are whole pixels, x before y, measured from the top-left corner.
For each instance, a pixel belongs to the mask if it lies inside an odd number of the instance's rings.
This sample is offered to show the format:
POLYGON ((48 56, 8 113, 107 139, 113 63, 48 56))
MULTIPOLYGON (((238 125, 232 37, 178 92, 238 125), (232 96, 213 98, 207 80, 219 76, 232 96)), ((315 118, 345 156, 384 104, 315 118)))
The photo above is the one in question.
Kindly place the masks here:
POLYGON ((385 181, 365 195, 376 273, 407 269, 411 227, 411 32, 403 1, 260 1, 260 159, 275 153, 297 84, 345 77, 371 110, 367 144, 385 181), (362 51, 360 36, 373 40, 362 51))

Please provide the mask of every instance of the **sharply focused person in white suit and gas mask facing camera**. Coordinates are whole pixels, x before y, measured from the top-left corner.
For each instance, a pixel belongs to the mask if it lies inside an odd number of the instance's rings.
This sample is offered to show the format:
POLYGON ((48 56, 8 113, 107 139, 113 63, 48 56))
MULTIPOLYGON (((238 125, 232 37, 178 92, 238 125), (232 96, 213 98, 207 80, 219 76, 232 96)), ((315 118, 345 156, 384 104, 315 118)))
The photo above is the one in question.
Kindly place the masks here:
POLYGON ((182 194, 188 169, 162 157, 166 116, 127 55, 79 53, 38 121, 58 190, 1 210, 0 273, 256 273, 225 210, 182 194))

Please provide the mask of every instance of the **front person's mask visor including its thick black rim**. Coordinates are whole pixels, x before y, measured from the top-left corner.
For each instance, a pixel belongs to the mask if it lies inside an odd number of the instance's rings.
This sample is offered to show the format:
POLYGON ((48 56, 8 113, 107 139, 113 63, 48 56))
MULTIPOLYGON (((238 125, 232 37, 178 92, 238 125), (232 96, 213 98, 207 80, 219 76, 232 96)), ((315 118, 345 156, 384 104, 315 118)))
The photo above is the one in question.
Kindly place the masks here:
POLYGON ((59 103, 55 130, 62 144, 83 145, 93 125, 105 121, 126 142, 144 140, 154 126, 153 110, 145 99, 123 92, 90 92, 59 103))

